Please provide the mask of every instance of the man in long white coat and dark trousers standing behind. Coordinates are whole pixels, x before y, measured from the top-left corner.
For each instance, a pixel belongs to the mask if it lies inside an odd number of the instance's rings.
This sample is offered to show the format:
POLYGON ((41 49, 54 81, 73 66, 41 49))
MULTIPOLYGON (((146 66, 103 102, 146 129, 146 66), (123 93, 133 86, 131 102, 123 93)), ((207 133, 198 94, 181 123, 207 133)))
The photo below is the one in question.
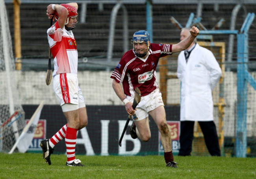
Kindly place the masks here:
MULTIPOLYGON (((189 35, 183 28, 180 40, 189 35)), ((196 40, 178 56, 178 78, 181 81, 180 156, 191 155, 194 123, 198 121, 204 141, 212 156, 220 156, 219 141, 213 122, 212 90, 221 77, 221 68, 213 53, 196 40)))

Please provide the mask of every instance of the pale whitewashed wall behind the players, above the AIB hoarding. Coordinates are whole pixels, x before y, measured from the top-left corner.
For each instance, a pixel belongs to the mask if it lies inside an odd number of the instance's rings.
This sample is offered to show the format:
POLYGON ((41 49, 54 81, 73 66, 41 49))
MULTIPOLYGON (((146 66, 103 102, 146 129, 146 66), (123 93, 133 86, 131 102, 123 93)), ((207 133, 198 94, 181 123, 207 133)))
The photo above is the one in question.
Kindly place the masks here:
MULTIPOLYGON (((78 79, 79 85, 85 97, 86 105, 123 105, 121 100, 115 94, 112 88, 112 79, 110 78, 112 71, 79 71, 78 79)), ((4 74, 0 74, 2 77, 4 74)), ((39 104, 45 100, 45 104, 58 104, 52 83, 49 86, 45 84, 46 71, 15 71, 12 81, 17 81, 17 99, 21 104, 39 104)), ((252 73, 256 78, 255 73, 252 73)), ((159 84, 159 73, 157 73, 157 81, 159 84)), ((4 90, 1 84, 1 104, 8 103, 7 91, 4 90)), ((180 103, 180 81, 178 79, 171 79, 167 82, 168 104, 180 103)), ((256 104, 255 90, 248 85, 248 103, 247 103, 247 129, 248 136, 255 136, 254 128, 256 127, 256 104)), ((214 102, 217 102, 219 88, 218 86, 213 91, 214 102)), ((224 76, 224 99, 226 103, 224 114, 224 135, 234 136, 236 125, 236 101, 237 101, 237 76, 234 72, 226 72, 224 76)), ((214 120, 216 126, 219 125, 218 109, 214 109, 214 120)))

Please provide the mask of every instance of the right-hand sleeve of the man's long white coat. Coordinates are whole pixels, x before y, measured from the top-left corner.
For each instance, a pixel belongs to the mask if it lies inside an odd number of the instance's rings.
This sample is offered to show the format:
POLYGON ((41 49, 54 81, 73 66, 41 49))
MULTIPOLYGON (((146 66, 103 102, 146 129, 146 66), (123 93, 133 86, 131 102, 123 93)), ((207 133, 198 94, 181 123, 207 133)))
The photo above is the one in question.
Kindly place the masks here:
POLYGON ((219 82, 219 79, 221 78, 221 68, 211 51, 208 51, 205 55, 206 68, 210 72, 211 91, 213 91, 216 84, 219 82))

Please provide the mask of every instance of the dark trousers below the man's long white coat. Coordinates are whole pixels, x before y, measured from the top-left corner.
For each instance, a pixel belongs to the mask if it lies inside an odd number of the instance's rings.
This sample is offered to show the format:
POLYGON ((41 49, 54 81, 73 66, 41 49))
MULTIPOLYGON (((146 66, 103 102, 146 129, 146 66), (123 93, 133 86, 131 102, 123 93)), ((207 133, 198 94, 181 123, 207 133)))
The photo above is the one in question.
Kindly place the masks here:
MULTIPOLYGON (((212 156, 221 156, 215 123, 213 121, 198 121, 198 123, 204 134, 204 141, 209 153, 212 156)), ((194 124, 195 121, 180 122, 180 151, 178 154, 180 156, 191 155, 192 141, 194 138, 194 124)))

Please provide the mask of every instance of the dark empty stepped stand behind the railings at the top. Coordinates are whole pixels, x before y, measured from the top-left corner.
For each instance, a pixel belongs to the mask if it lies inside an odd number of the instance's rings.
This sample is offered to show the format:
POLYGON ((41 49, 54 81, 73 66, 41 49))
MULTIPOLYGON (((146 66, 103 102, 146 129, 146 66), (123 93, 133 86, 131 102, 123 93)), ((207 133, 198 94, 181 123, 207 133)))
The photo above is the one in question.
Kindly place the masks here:
MULTIPOLYGON (((78 44, 78 54, 83 57, 106 56, 109 36, 109 20, 111 11, 115 4, 104 4, 103 10, 98 9, 98 4, 87 4, 85 23, 79 23, 74 30, 78 44)), ((218 10, 214 9, 214 4, 207 4, 202 9, 202 24, 206 29, 211 29, 215 24, 224 18, 225 22, 220 29, 230 28, 230 18, 232 9, 236 4, 219 5, 218 10)), ((9 26, 13 34, 13 5, 6 4, 9 14, 9 26)), ((256 5, 244 5, 247 12, 253 12, 256 5)), ((129 37, 134 31, 146 29, 146 7, 145 5, 125 4, 128 11, 129 37)), ((47 58, 48 43, 46 29, 49 20, 46 18, 46 4, 21 4, 20 23, 22 57, 47 58)), ((78 9, 80 13, 81 9, 78 9)), ((190 13, 197 13, 197 5, 191 4, 154 4, 153 5, 153 36, 154 43, 178 42, 180 31, 171 24, 170 17, 174 16, 182 26, 186 25, 190 13)), ((239 11, 236 21, 236 29, 240 29, 246 14, 239 11)), ((255 33, 255 28, 251 33, 255 33)), ((13 35, 12 35, 13 37, 13 35)), ((228 44, 228 38, 218 37, 220 41, 228 44)), ((122 11, 119 10, 116 20, 114 57, 120 58, 122 55, 122 11)), ((131 45, 129 47, 132 47, 131 45)))

